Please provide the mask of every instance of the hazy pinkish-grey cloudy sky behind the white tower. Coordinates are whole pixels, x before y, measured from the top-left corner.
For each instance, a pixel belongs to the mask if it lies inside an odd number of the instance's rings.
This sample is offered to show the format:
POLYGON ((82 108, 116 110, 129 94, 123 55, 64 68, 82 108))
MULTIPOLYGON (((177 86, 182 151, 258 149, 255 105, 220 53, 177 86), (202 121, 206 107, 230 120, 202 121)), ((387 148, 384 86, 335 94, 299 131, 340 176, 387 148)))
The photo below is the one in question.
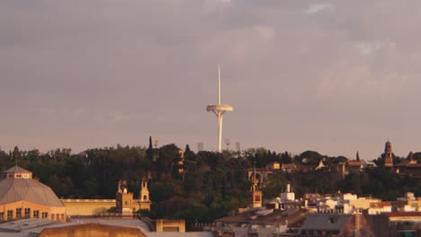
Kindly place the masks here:
POLYGON ((421 151, 421 1, 0 1, 0 147, 421 151), (226 147, 226 145, 224 145, 226 147))

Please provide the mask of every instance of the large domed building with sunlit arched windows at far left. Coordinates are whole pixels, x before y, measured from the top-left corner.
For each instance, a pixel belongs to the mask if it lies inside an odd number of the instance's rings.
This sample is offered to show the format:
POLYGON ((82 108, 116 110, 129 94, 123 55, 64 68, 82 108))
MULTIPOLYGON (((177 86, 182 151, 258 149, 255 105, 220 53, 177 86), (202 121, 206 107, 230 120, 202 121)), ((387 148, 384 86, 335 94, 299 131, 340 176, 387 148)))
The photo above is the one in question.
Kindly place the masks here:
POLYGON ((48 218, 66 222, 66 206, 32 172, 19 166, 0 172, 0 221, 48 218))

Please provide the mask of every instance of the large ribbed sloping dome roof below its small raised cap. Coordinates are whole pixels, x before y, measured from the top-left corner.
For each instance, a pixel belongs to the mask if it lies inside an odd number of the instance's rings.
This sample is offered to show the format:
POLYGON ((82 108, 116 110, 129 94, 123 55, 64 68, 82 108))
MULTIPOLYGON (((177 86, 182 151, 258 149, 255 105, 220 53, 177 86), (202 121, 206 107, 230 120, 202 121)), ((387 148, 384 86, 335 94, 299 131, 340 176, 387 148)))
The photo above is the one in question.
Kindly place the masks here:
POLYGON ((0 205, 28 201, 43 206, 64 206, 47 185, 32 179, 4 179, 0 182, 0 205))

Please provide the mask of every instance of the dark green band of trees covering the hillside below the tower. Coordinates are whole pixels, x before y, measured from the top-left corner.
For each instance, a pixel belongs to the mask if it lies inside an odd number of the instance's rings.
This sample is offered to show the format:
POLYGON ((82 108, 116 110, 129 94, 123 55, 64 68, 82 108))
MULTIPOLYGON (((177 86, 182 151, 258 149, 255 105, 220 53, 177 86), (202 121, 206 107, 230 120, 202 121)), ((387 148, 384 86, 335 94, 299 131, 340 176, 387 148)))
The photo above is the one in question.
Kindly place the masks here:
MULTIPOLYGON (((247 169, 263 168, 271 162, 294 163, 298 171, 274 171, 264 183, 264 198, 279 197, 287 183, 302 197, 304 193, 352 192, 393 200, 405 191, 421 196, 421 182, 408 175, 396 174, 381 166, 363 172, 351 172, 343 179, 335 170, 344 156, 329 157, 317 152, 291 155, 275 153, 264 148, 248 149, 241 153, 222 154, 202 151, 193 153, 187 145, 184 160, 179 147, 164 145, 153 148, 122 146, 88 149, 73 154, 70 149, 46 153, 38 150, 0 150, 0 168, 6 170, 15 162, 33 172, 59 198, 115 198, 118 180, 127 180, 135 198, 139 196, 140 180, 148 178, 152 210, 145 215, 152 218, 184 218, 188 224, 210 223, 228 215, 238 207, 245 207, 250 183, 247 169), (326 168, 313 168, 322 160, 326 168)), ((414 154, 416 159, 421 158, 414 154)), ((394 157, 394 162, 407 158, 394 157)))

